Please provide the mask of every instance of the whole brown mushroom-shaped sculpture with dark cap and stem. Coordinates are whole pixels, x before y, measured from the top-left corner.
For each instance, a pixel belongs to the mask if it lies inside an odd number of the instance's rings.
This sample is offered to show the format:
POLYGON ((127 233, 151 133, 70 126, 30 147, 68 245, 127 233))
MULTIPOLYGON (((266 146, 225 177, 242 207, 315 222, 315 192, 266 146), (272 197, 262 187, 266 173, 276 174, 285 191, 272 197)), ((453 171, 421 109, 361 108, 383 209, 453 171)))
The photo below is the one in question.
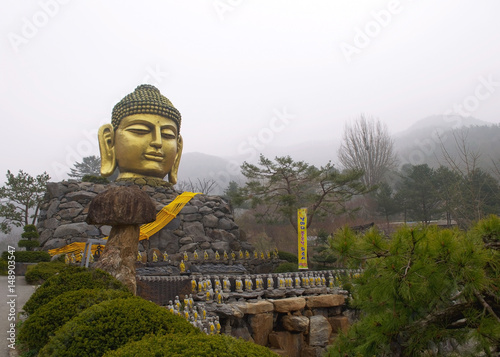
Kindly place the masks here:
POLYGON ((111 226, 108 242, 95 267, 120 280, 134 295, 140 225, 155 219, 155 205, 138 187, 111 187, 90 202, 87 223, 111 226))

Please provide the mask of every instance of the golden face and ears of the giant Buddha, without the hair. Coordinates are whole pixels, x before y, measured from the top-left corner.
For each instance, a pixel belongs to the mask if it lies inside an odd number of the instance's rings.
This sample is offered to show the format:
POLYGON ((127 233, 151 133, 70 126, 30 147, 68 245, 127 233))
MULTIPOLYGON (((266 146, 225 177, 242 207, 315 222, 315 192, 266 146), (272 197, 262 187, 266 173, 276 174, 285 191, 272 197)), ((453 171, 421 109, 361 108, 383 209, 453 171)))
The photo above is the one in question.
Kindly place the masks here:
POLYGON ((176 183, 182 139, 172 119, 156 114, 129 115, 114 131, 109 124, 103 126, 99 141, 101 160, 106 159, 102 154, 104 143, 105 151, 112 154, 109 160, 115 163, 113 170, 118 166, 120 171, 118 179, 143 176, 163 179, 169 174, 170 183, 176 183))

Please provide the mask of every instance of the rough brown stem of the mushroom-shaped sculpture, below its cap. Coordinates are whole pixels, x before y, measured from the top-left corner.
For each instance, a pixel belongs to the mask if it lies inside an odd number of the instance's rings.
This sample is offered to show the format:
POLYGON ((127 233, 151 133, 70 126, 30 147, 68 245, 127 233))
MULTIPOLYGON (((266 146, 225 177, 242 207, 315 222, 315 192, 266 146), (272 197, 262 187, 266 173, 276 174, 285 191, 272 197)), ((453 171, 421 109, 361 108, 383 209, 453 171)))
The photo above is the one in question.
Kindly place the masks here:
POLYGON ((139 225, 113 226, 104 251, 95 267, 107 271, 136 294, 135 261, 139 225))

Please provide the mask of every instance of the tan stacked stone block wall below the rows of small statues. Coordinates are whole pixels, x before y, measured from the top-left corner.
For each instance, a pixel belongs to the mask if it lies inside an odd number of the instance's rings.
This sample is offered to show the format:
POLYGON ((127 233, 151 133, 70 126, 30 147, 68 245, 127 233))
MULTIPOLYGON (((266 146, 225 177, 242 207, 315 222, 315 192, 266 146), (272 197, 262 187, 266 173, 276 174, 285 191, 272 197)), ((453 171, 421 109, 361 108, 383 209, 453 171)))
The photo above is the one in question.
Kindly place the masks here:
MULTIPOLYGON (((267 346, 281 356, 322 356, 349 327, 343 295, 268 299, 226 304, 218 310, 222 332, 267 346)), ((207 311, 210 311, 207 304, 207 311)))

